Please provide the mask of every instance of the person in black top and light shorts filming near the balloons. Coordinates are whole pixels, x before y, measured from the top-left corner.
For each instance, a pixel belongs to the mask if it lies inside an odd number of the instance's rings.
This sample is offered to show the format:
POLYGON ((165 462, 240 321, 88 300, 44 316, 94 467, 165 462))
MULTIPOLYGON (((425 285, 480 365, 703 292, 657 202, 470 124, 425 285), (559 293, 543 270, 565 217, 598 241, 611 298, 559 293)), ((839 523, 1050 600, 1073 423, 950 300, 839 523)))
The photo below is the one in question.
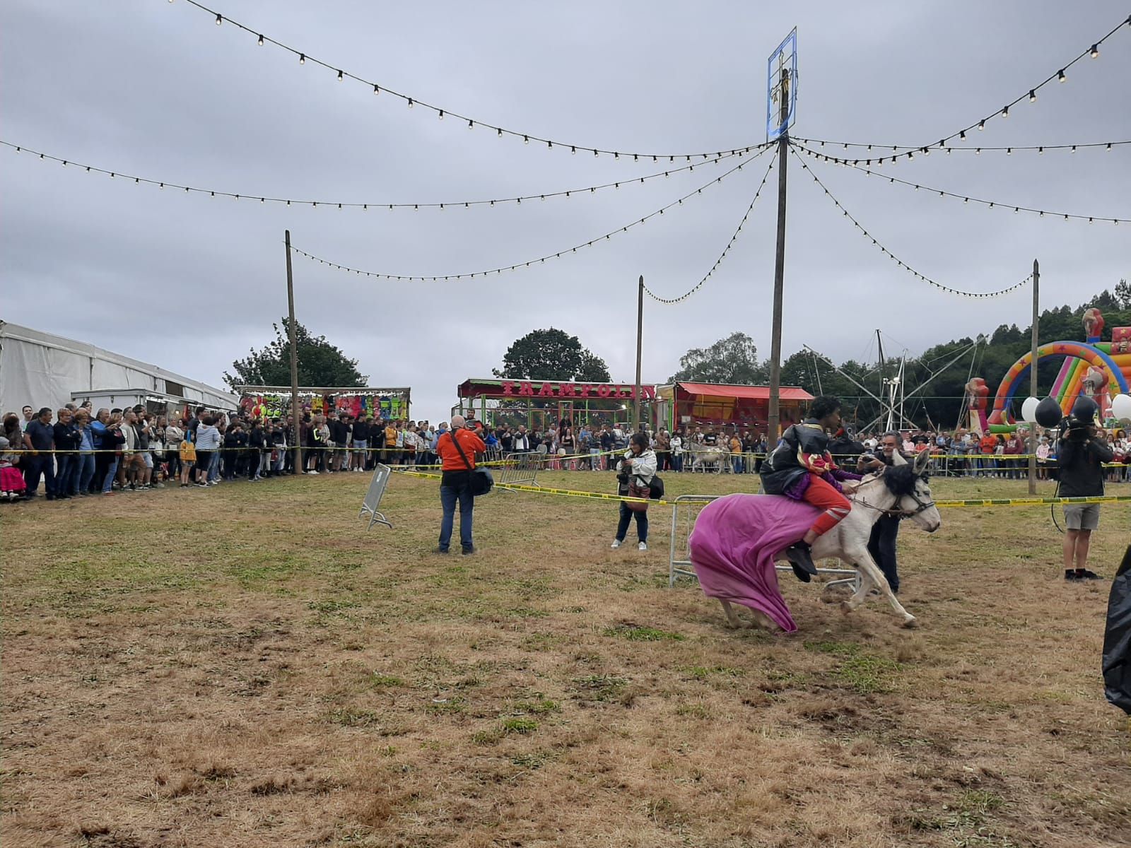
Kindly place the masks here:
MULTIPOLYGON (((1103 431, 1091 422, 1095 412, 1083 412, 1087 405, 1081 398, 1072 408, 1078 425, 1065 429, 1060 434, 1056 464, 1061 497, 1087 497, 1104 494, 1104 462, 1111 462, 1114 451, 1104 440, 1103 431), (1083 414, 1081 414, 1083 413, 1083 414)), ((1064 579, 1098 580, 1099 576, 1088 571, 1088 547, 1091 531, 1099 527, 1098 503, 1065 503, 1064 523, 1064 579)))

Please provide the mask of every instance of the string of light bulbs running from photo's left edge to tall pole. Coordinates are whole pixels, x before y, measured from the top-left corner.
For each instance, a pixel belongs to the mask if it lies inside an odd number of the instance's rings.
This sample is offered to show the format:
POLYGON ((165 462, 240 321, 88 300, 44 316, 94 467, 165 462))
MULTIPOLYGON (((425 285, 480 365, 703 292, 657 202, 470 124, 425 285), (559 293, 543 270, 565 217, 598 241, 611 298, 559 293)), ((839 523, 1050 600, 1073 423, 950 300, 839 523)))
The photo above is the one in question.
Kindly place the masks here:
POLYGON ((146 176, 136 176, 135 174, 126 174, 121 171, 109 171, 103 167, 96 167, 94 165, 85 165, 80 162, 75 162, 74 159, 64 159, 59 156, 52 156, 46 153, 41 153, 38 150, 33 150, 31 147, 24 147, 23 145, 16 145, 11 141, 0 140, 0 145, 14 149, 16 153, 27 153, 32 157, 42 159, 44 162, 58 162, 63 167, 74 167, 80 170, 85 173, 95 173, 110 176, 111 179, 122 179, 127 182, 132 181, 133 183, 141 185, 153 185, 158 189, 175 189, 178 191, 184 191, 187 193, 195 194, 208 194, 209 197, 222 197, 232 198, 233 200, 252 200, 259 201, 260 204, 282 204, 284 206, 310 206, 312 208, 321 209, 469 209, 473 206, 503 206, 507 204, 515 204, 521 206, 523 201, 530 200, 550 200, 554 198, 570 198, 575 194, 593 194, 598 191, 604 191, 606 189, 620 189, 622 185, 639 185, 648 180, 656 180, 659 178, 671 176, 672 174, 677 174, 683 171, 692 172, 697 167, 701 168, 705 165, 718 164, 723 159, 731 158, 732 156, 742 157, 745 156, 750 150, 767 147, 767 144, 756 145, 754 147, 744 148, 737 150, 734 154, 725 153, 715 158, 707 159, 705 162, 698 162, 693 165, 681 165, 680 167, 673 167, 667 171, 657 171, 653 174, 645 174, 642 176, 633 176, 631 179, 618 180, 615 182, 602 183, 599 185, 587 185, 582 189, 564 189, 561 191, 547 191, 542 194, 523 194, 520 197, 507 197, 507 198, 493 198, 487 200, 457 200, 447 202, 431 202, 431 204, 382 204, 382 202, 346 202, 337 200, 299 200, 295 198, 280 198, 280 197, 266 197, 260 194, 245 194, 233 191, 221 191, 219 189, 199 189, 191 185, 181 185, 175 182, 170 182, 167 180, 154 180, 146 176))

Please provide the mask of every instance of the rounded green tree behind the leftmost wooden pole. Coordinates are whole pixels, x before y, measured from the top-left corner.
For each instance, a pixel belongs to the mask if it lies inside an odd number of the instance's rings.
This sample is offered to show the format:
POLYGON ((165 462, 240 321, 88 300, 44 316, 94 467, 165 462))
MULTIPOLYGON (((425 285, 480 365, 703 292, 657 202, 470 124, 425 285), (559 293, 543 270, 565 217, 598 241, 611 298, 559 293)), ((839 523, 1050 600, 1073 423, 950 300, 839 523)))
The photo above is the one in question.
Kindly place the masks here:
MULTIPOLYGON (((288 320, 282 326, 273 323, 275 339, 261 351, 251 349, 250 355, 232 363, 235 374, 224 372, 224 381, 236 386, 290 386, 291 341, 287 338, 288 320)), ((299 352, 299 384, 312 387, 363 387, 369 379, 357 371, 357 360, 348 358, 342 351, 326 340, 325 336, 312 336, 301 323, 295 323, 295 347, 299 352)))

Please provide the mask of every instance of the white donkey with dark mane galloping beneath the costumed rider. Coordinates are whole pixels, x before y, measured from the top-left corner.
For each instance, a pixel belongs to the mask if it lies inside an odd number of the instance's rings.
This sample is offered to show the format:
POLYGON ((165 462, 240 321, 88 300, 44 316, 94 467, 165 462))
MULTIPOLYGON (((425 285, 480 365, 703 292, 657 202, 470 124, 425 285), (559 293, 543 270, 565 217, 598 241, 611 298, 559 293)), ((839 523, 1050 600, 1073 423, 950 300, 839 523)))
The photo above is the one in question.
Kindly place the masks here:
MULTIPOLYGON (((934 533, 942 526, 942 517, 934 505, 926 471, 931 457, 927 451, 920 452, 914 462, 908 464, 900 453, 895 455, 895 465, 884 468, 881 474, 869 475, 860 482, 856 492, 851 496, 852 511, 836 527, 818 536, 813 543, 813 559, 821 560, 836 556, 860 572, 860 588, 841 605, 846 613, 853 612, 864 603, 872 589, 879 589, 896 614, 904 620, 905 628, 914 628, 917 621, 914 615, 904 609, 887 578, 880 571, 867 551, 867 540, 872 535, 872 525, 880 516, 898 516, 909 518, 927 533, 934 533)), ((787 562, 784 555, 777 557, 787 562)), ((732 626, 740 622, 726 600, 719 599, 726 620, 732 626)), ((759 626, 777 629, 763 613, 752 609, 759 626)))

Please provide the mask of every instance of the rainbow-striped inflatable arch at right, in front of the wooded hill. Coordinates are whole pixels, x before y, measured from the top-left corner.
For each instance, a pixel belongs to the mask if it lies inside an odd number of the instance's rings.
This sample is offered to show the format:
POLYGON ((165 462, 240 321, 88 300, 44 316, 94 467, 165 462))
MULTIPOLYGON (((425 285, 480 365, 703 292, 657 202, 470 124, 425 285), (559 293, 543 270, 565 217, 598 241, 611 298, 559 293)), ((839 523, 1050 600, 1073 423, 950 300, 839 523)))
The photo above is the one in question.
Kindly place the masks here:
MULTIPOLYGON (((1081 383, 1089 367, 1098 367, 1107 374, 1108 392, 1114 395, 1112 383, 1124 395, 1131 393, 1131 354, 1112 354, 1111 341, 1052 341, 1037 348, 1037 357, 1043 356, 1067 356, 1068 361, 1061 366, 1053 384, 1051 397, 1056 399, 1065 415, 1072 409, 1072 404, 1080 396, 1081 383)), ((1025 379, 1029 375, 1033 364, 1033 356, 1026 354, 1013 363, 1005 377, 1002 378, 1001 386, 993 401, 993 412, 990 414, 990 426, 995 430, 1012 430, 1015 422, 1009 414, 1010 401, 1017 393, 1018 388, 1025 384, 1025 379)))

